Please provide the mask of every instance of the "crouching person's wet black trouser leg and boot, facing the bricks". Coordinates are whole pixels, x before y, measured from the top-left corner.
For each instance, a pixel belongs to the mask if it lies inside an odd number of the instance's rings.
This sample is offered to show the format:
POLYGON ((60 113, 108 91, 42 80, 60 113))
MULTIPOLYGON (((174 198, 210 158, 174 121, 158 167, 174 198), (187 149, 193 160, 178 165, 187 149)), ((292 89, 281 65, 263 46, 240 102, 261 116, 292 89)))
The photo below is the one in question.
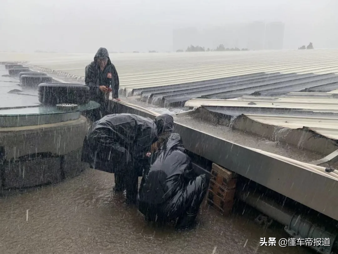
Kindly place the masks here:
POLYGON ((176 229, 185 229, 193 226, 199 207, 207 192, 206 176, 200 175, 189 182, 186 190, 185 211, 179 216, 176 229))

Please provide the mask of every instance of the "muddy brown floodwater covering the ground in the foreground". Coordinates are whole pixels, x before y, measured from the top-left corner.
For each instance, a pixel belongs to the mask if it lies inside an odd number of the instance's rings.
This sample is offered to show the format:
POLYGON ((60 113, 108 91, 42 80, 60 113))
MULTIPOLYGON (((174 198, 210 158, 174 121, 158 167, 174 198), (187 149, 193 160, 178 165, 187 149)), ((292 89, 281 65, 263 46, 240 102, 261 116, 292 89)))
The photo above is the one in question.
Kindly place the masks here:
POLYGON ((113 186, 113 174, 88 169, 57 185, 0 197, 0 253, 312 253, 299 246, 260 247, 260 237, 288 235, 281 225, 255 224, 248 207, 228 217, 205 207, 198 226, 185 232, 147 225, 113 186))

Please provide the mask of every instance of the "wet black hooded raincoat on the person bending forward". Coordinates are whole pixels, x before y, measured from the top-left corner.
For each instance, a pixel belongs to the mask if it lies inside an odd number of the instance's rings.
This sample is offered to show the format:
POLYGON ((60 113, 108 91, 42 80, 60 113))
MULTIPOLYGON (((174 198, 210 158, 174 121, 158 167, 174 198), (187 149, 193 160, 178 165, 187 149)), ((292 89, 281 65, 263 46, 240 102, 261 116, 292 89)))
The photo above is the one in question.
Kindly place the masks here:
POLYGON ((160 115, 157 121, 135 114, 106 115, 89 129, 83 143, 82 161, 95 163, 95 168, 103 171, 115 168, 116 161, 109 162, 111 154, 125 154, 125 158, 140 161, 150 150, 159 130, 170 130, 172 126, 170 115, 160 115))

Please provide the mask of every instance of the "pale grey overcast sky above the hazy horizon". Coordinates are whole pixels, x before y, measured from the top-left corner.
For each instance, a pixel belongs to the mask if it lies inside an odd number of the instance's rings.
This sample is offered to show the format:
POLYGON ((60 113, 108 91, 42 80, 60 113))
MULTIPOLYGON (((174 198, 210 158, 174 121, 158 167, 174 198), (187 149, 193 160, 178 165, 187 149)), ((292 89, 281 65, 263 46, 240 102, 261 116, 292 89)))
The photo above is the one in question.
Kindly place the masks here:
POLYGON ((171 51, 172 29, 285 22, 284 48, 338 47, 337 0, 0 0, 0 51, 171 51))

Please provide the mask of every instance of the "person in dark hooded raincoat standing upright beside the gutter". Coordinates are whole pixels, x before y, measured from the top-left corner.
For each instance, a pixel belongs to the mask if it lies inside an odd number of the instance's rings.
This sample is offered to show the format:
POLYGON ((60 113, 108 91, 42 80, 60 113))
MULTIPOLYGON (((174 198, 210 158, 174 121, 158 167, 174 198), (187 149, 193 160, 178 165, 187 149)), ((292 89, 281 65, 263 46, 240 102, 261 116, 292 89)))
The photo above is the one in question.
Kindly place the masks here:
MULTIPOLYGON (((110 91, 112 91, 113 99, 120 100, 119 76, 106 48, 99 48, 94 56, 94 61, 86 66, 84 81, 90 88, 91 101, 100 104, 98 109, 92 110, 89 114, 89 118, 94 122, 108 113, 110 91)), ((117 104, 115 106, 117 107, 117 104)), ((117 113, 117 111, 115 112, 117 113)))

